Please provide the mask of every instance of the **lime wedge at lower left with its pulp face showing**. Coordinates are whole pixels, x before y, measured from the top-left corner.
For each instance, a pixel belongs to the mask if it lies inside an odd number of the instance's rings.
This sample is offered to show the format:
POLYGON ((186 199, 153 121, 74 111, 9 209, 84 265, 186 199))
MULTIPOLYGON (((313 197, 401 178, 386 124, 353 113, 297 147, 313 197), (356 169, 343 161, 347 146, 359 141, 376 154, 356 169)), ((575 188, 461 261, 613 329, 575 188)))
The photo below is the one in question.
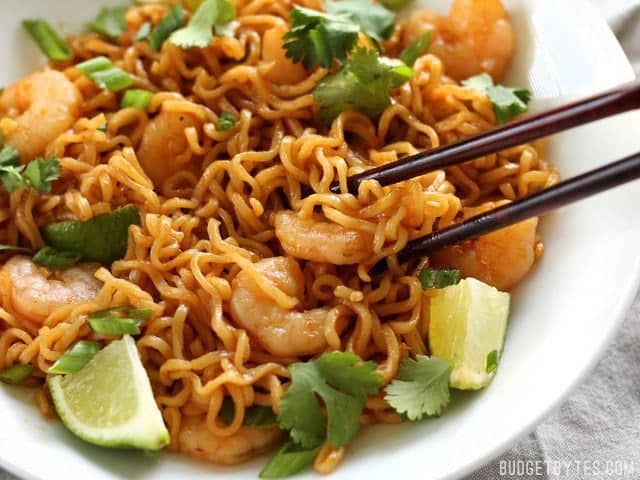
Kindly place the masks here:
POLYGON ((72 374, 49 380, 65 426, 101 447, 158 450, 169 432, 130 336, 112 342, 72 374))

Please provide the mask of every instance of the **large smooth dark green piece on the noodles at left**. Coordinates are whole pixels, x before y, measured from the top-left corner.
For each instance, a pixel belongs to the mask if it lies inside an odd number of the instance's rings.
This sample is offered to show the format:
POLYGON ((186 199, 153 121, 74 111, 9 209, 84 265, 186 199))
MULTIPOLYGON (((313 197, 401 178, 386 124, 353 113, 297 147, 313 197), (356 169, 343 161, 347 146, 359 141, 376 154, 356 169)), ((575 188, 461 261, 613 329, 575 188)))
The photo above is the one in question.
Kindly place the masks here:
POLYGON ((133 205, 86 222, 47 225, 42 228, 42 236, 47 245, 80 254, 82 261, 110 264, 124 256, 131 225, 140 225, 138 208, 133 205))

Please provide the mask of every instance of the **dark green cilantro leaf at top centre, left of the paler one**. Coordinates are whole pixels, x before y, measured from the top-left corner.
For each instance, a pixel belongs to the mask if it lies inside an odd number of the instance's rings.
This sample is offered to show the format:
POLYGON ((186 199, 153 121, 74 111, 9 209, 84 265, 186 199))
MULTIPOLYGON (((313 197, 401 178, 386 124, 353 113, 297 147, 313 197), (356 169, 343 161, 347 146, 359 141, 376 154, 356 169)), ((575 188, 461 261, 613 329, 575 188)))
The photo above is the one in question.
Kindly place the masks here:
POLYGON ((290 15, 293 24, 283 37, 286 55, 306 68, 330 67, 334 58, 344 61, 358 41, 360 27, 346 16, 298 6, 290 15))

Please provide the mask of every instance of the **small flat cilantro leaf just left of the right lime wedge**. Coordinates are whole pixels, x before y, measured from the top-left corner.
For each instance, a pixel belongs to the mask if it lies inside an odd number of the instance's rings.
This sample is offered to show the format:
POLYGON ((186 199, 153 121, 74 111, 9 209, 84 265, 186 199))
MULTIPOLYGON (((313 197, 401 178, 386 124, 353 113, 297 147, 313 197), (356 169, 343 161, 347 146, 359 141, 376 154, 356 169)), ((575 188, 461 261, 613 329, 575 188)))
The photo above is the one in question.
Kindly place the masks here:
POLYGON ((396 412, 412 421, 440 415, 449 403, 451 369, 450 361, 437 357, 418 355, 416 360, 405 359, 384 398, 396 412))

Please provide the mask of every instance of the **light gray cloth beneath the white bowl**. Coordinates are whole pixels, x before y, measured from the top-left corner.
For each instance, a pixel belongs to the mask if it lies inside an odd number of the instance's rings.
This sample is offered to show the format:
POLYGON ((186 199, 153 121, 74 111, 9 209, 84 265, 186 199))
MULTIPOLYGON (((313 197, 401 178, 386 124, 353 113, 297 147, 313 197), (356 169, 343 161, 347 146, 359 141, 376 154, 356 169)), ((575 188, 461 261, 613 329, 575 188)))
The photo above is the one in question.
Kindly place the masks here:
MULTIPOLYGON (((640 0, 592 1, 640 74, 640 0)), ((585 384, 531 435, 466 480, 640 479, 639 366, 640 295, 585 384)), ((17 479, 0 469, 0 480, 17 479)))

